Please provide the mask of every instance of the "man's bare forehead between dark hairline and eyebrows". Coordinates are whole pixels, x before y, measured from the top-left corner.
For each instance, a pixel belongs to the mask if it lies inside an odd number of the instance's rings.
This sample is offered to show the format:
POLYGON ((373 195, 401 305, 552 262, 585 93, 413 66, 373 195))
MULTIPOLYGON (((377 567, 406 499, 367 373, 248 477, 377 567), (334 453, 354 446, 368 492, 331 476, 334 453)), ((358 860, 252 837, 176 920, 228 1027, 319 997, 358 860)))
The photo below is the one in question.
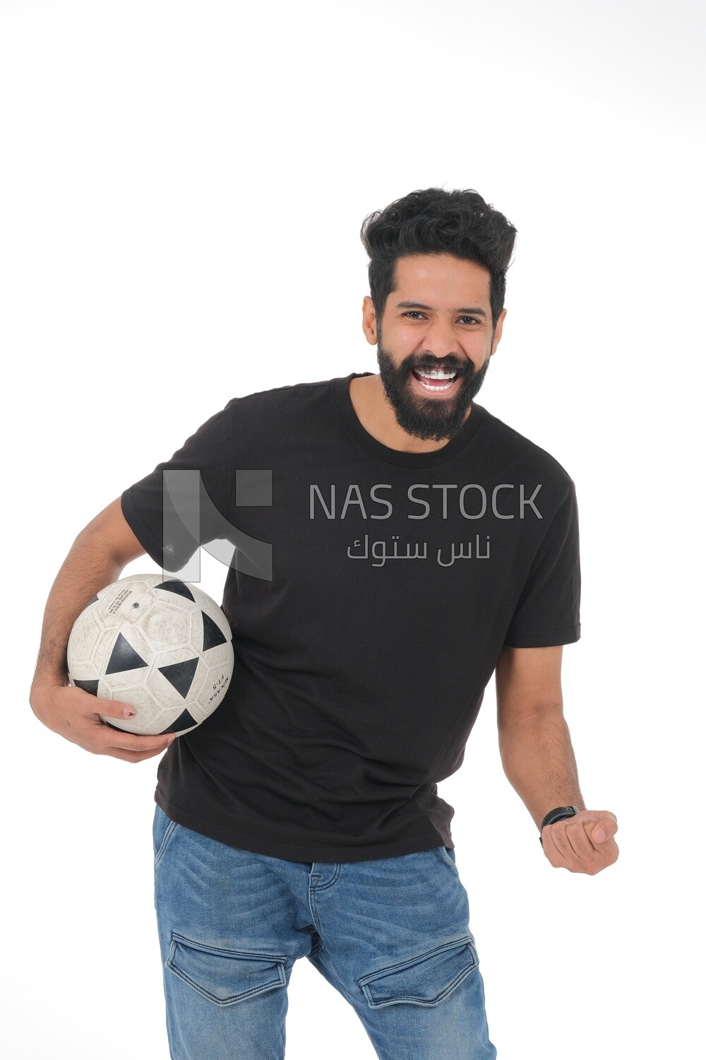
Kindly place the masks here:
POLYGON ((490 305, 488 269, 453 254, 405 254, 397 259, 395 279, 396 293, 434 307, 490 305))

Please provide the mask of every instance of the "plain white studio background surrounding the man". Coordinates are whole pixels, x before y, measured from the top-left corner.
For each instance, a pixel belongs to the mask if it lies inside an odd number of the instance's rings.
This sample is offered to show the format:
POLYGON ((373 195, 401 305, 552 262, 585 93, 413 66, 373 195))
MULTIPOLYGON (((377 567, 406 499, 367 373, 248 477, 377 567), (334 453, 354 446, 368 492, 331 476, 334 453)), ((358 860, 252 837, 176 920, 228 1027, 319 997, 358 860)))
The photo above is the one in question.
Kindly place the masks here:
MULTIPOLYGON (((519 229, 478 401, 576 482, 565 712, 586 802, 620 826, 599 876, 549 866, 489 686, 440 794, 491 1038, 501 1060, 694 1055, 703 17, 687 0, 0 5, 5 1056, 168 1056, 158 760, 88 755, 33 716, 53 578, 230 398, 377 371, 358 233, 430 186, 474 188, 519 229)), ((373 1057, 306 960, 287 1038, 288 1060, 373 1057)))

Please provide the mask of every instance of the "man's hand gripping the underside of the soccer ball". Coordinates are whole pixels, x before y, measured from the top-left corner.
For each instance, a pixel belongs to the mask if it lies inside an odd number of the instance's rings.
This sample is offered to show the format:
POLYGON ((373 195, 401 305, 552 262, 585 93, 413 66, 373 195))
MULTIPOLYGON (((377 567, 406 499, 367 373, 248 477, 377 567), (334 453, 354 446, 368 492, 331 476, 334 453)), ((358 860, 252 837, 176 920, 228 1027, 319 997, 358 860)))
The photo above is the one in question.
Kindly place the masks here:
POLYGON ((96 700, 83 688, 53 685, 31 699, 32 709, 48 728, 77 743, 92 755, 110 755, 126 762, 142 762, 161 755, 175 740, 168 736, 135 736, 111 728, 101 721, 96 706, 106 718, 129 718, 134 708, 117 700, 96 700))

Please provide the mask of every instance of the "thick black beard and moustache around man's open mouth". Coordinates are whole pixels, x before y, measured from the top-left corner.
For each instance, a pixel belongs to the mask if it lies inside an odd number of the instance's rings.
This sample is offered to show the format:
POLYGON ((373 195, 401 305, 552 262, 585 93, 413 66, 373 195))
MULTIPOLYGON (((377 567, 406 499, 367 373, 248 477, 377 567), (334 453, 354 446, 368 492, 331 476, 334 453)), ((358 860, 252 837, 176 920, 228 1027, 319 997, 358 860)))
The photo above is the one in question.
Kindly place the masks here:
POLYGON ((483 385, 489 364, 490 357, 476 372, 470 360, 459 361, 453 357, 439 360, 436 357, 411 355, 396 368, 382 343, 378 343, 380 379, 387 401, 395 410, 397 422, 408 435, 435 442, 453 438, 463 426, 471 403, 483 385), (417 370, 438 368, 442 371, 455 369, 460 377, 457 393, 447 400, 418 398, 411 391, 412 368, 417 370))

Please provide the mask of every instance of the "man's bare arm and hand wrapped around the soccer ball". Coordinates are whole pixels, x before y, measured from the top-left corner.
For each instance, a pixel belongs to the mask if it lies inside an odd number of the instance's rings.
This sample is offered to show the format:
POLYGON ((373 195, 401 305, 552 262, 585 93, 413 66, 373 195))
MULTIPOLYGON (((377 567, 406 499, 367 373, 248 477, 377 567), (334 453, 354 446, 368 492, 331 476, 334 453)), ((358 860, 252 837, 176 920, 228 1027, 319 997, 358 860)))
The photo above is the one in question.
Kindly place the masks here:
MULTIPOLYGON (((82 530, 56 576, 44 608, 41 644, 30 705, 40 722, 94 755, 141 762, 161 754, 174 736, 134 736, 101 721, 94 695, 67 684, 67 646, 73 623, 88 601, 145 549, 128 526, 120 498, 82 530)), ((101 701, 106 718, 127 718, 125 703, 101 701)))

